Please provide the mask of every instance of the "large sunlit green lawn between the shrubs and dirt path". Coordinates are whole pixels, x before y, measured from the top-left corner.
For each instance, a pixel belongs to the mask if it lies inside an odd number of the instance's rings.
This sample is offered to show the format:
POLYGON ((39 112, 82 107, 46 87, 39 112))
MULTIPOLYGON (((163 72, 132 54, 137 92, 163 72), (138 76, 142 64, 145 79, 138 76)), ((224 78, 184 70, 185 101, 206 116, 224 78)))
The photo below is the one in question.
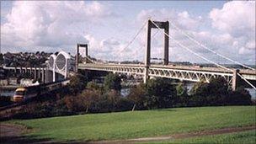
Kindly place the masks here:
POLYGON ((157 109, 9 122, 33 128, 35 131, 28 136, 99 141, 255 125, 255 110, 255 106, 157 109))

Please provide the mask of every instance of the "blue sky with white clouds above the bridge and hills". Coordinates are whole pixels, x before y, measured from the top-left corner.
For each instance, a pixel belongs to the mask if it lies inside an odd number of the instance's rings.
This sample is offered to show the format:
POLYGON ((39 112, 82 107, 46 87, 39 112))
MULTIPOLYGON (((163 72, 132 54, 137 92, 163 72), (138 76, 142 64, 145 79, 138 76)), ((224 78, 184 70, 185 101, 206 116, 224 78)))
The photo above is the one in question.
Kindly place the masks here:
MULTIPOLYGON (((169 21, 169 61, 255 63, 255 1, 1 1, 1 52, 67 51, 88 43, 102 60, 144 60, 147 19, 169 21), (178 27, 177 30, 173 25, 178 27), (130 44, 128 47, 127 45, 130 44)), ((163 33, 152 29, 152 57, 163 56, 163 33)))

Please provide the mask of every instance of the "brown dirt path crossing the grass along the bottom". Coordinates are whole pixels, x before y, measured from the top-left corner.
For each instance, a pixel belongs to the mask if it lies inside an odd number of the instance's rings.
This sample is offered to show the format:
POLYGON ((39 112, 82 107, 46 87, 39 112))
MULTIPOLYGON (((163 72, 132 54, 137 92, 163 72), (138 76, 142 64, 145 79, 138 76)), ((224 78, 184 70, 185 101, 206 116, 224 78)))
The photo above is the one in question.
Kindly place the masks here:
MULTIPOLYGON (((256 125, 243 126, 243 127, 231 127, 217 130, 207 130, 207 131, 197 131, 190 133, 182 133, 168 136, 155 136, 155 137, 143 137, 136 139, 128 139, 128 140, 115 140, 115 141, 89 141, 89 142, 76 142, 72 143, 104 143, 104 144, 112 144, 112 143, 138 143, 138 142, 147 142, 147 141, 163 141, 163 140, 171 140, 171 139, 180 139, 180 138, 189 138, 195 136, 211 136, 218 134, 227 134, 239 131, 249 131, 256 130, 256 125)), ((8 125, 8 124, 0 124, 0 143, 54 143, 50 139, 36 139, 33 137, 22 136, 22 133, 27 131, 24 126, 20 125, 8 125)), ((60 143, 60 142, 56 142, 60 143)), ((67 142, 67 143, 70 143, 67 142)))

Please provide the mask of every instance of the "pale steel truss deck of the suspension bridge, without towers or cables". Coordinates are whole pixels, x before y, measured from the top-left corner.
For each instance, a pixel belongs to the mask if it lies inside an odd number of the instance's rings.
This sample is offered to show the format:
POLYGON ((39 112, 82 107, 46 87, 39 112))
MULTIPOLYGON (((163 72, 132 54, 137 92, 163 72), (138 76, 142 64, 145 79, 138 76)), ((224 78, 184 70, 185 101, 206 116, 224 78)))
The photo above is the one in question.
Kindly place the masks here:
MULTIPOLYGON (((125 74, 144 75, 146 67, 143 65, 118 65, 118 64, 79 64, 79 69, 118 72, 125 74)), ((252 70, 243 70, 240 73, 248 80, 256 80, 255 73, 252 70)), ((232 72, 213 67, 171 67, 171 66, 150 66, 148 67, 148 76, 167 77, 179 79, 181 81, 210 82, 211 78, 224 77, 228 83, 232 83, 232 72)))

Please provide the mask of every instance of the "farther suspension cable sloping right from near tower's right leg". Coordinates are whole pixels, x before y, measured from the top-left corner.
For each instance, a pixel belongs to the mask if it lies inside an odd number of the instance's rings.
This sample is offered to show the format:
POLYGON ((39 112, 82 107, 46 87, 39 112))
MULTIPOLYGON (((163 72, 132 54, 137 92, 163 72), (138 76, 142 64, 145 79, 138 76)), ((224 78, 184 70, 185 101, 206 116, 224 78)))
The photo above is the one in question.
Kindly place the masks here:
POLYGON ((195 40, 195 38, 190 36, 188 33, 184 32, 184 30, 179 29, 179 27, 177 27, 175 24, 173 24, 171 22, 170 22, 170 24, 173 25, 174 29, 178 29, 183 35, 185 35, 187 38, 189 38, 189 40, 192 40, 195 44, 200 45, 202 48, 206 49, 207 51, 211 51, 212 53, 216 54, 217 56, 221 56, 222 58, 227 59, 228 61, 232 61, 232 62, 234 62, 234 63, 236 63, 240 66, 246 67, 246 68, 251 69, 251 70, 255 70, 253 67, 248 67, 248 66, 244 65, 243 63, 240 63, 238 61, 234 61, 234 60, 232 60, 231 58, 229 58, 227 56, 223 56, 223 55, 217 53, 216 51, 212 51, 209 47, 205 46, 204 44, 200 43, 200 41, 195 40))

